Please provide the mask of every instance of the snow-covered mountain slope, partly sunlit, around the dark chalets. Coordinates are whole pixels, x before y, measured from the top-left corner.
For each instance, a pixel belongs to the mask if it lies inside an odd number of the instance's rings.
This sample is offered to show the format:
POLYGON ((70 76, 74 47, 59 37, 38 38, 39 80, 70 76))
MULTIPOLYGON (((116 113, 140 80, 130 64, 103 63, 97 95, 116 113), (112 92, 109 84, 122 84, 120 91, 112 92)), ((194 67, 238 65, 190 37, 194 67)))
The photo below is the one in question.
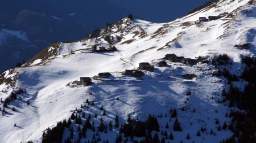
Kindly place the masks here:
MULTIPOLYGON (((125 18, 101 31, 94 31, 84 40, 47 47, 22 67, 0 76, 1 98, 20 88, 27 91, 10 103, 5 116, 0 116, 0 142, 41 142, 46 128, 68 119, 71 110, 85 105, 86 99, 94 101, 95 105, 82 111, 86 116, 98 114, 98 118, 92 119, 96 127, 100 124, 101 105, 107 114, 102 116, 104 123, 113 122, 115 115, 123 124, 129 115, 145 121, 149 114, 162 114, 163 117, 158 118, 160 131, 166 130, 166 123, 172 127, 175 118, 170 120, 169 110, 177 109, 183 132, 167 129, 168 135, 170 132, 174 134, 174 142, 220 142, 232 136, 230 131, 217 131, 218 125, 215 124, 216 119, 221 125, 230 121, 225 117, 230 109, 225 103, 218 103, 222 99, 222 89, 228 88, 225 79, 212 76, 212 72, 218 69, 204 62, 187 66, 166 60, 167 67, 159 67, 158 62, 172 53, 193 59, 200 56, 205 60, 226 53, 233 61, 230 71, 239 75, 241 56, 255 56, 255 14, 255 1, 217 1, 170 23, 155 24, 125 18), (201 16, 218 16, 224 12, 228 15, 220 19, 198 21, 201 16), (234 47, 243 44, 249 47, 234 47), (115 46, 117 51, 92 53, 93 48, 98 50, 102 46, 115 46), (143 71, 145 75, 141 78, 121 74, 138 68, 141 62, 151 63, 155 70, 143 71), (110 72, 113 76, 109 79, 94 77, 94 84, 89 86, 76 85, 80 77, 93 77, 99 72, 110 72), (183 76, 185 74, 197 77, 187 79, 183 76), (7 82, 7 77, 13 83, 7 82), (10 84, 14 87, 11 88, 10 84), (190 96, 185 95, 188 91, 191 91, 190 96), (27 106, 28 99, 30 105, 27 106), (16 105, 16 111, 11 111, 16 105), (196 112, 193 112, 194 108, 196 112), (198 137, 196 132, 201 127, 207 128, 208 133, 198 137), (209 133, 210 129, 216 132, 215 136, 209 133), (188 133, 191 140, 185 139, 188 133)), ((239 82, 238 85, 244 85, 239 82)), ((73 128, 77 130, 77 126, 73 128)), ((118 131, 114 128, 108 134, 101 133, 102 141, 114 142, 118 131)), ((93 132, 86 134, 91 141, 93 132)), ((69 131, 65 129, 63 142, 68 136, 69 131)), ((88 138, 82 138, 81 142, 88 141, 88 138)))

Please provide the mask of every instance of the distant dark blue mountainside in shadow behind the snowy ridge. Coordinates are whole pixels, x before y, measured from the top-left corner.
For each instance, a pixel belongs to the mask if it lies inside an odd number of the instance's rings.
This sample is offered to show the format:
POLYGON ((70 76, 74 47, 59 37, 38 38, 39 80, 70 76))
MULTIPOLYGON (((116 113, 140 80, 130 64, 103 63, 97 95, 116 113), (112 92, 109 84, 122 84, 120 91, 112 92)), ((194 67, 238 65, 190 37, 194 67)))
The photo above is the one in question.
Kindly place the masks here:
POLYGON ((93 29, 128 14, 136 19, 167 22, 205 1, 0 0, 0 72, 30 59, 52 42, 80 40, 93 29), (27 41, 16 35, 20 32, 27 41))

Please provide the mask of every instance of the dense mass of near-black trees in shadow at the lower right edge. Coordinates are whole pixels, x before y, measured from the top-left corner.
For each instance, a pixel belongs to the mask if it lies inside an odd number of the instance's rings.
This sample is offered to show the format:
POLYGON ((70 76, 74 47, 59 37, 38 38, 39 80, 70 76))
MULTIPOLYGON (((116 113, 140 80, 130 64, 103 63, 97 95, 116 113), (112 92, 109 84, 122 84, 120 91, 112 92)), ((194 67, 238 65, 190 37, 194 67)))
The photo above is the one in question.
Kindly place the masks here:
POLYGON ((256 59, 254 57, 243 57, 245 64, 240 78, 247 81, 243 90, 230 84, 228 92, 224 90, 225 101, 229 101, 229 107, 237 107, 240 110, 230 111, 229 117, 232 121, 228 129, 234 132, 234 136, 221 141, 221 143, 256 142, 256 59))

